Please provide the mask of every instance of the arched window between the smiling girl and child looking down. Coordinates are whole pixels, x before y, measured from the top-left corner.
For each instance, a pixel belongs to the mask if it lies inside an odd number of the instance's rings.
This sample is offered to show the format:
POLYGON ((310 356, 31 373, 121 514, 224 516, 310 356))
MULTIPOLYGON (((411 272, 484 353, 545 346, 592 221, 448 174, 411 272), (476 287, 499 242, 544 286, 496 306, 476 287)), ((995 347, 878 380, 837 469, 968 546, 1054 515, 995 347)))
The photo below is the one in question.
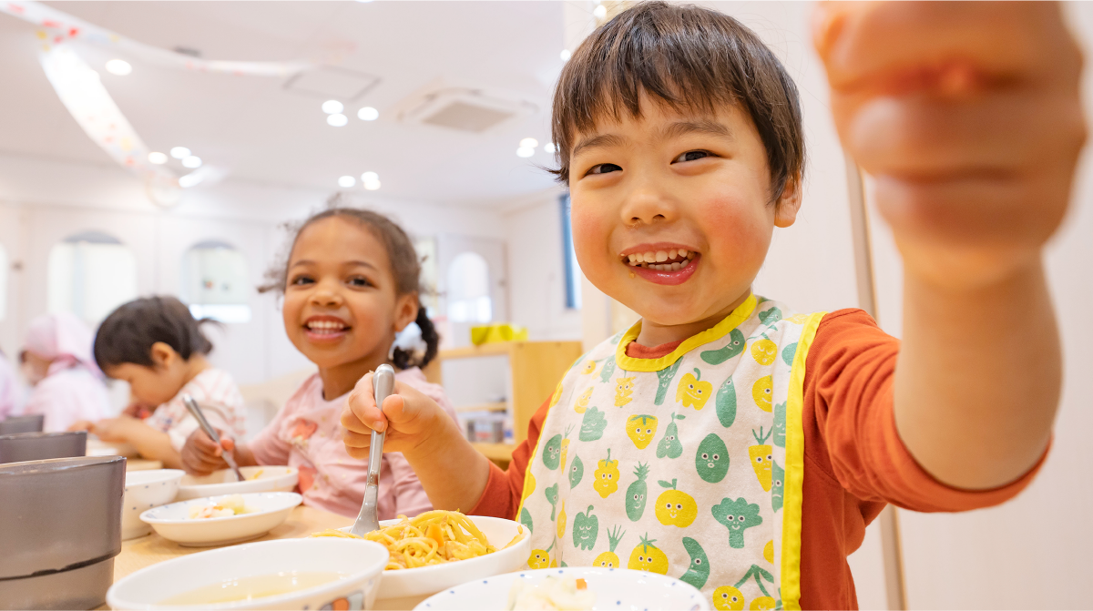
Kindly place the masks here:
POLYGON ((223 242, 195 244, 183 256, 179 294, 193 318, 221 322, 250 321, 247 260, 223 242))

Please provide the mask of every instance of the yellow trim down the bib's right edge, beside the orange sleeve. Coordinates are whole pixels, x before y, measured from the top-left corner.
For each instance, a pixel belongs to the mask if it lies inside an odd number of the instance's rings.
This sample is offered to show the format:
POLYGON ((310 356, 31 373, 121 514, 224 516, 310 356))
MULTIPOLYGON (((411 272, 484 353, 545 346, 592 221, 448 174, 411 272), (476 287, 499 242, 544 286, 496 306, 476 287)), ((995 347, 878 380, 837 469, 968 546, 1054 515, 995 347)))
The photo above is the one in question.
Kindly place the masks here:
POLYGON ((794 368, 789 375, 786 406, 786 482, 781 518, 781 606, 785 611, 801 611, 801 502, 804 485, 804 368, 809 348, 815 339, 820 320, 827 314, 809 315, 797 343, 794 368))

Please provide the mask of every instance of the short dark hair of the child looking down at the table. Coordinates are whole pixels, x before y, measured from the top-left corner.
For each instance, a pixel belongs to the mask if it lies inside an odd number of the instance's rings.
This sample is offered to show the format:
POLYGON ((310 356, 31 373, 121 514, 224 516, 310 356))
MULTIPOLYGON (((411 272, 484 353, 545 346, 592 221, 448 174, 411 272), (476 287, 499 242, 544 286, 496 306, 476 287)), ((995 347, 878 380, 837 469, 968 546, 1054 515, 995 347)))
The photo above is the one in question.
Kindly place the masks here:
POLYGON ((183 302, 171 296, 133 299, 118 306, 95 333, 95 362, 106 371, 125 363, 151 367, 152 344, 163 342, 189 361, 209 354, 212 342, 201 332, 209 319, 195 320, 183 302))

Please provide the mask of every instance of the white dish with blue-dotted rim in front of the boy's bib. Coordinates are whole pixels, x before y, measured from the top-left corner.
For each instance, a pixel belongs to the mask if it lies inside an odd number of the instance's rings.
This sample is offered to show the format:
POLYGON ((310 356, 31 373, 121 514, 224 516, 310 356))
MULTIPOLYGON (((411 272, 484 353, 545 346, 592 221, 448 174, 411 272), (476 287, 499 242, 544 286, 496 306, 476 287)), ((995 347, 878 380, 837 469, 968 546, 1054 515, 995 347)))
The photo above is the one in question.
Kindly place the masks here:
MULTIPOLYGON (((543 577, 579 577, 596 592, 595 611, 607 609, 644 609, 645 611, 709 611, 709 602, 694 586, 656 573, 628 568, 571 566, 540 568, 475 579, 444 590, 414 607, 414 611, 481 611, 505 609, 508 591, 516 579, 529 584, 543 577)), ((384 576, 386 579, 386 574, 384 576)))

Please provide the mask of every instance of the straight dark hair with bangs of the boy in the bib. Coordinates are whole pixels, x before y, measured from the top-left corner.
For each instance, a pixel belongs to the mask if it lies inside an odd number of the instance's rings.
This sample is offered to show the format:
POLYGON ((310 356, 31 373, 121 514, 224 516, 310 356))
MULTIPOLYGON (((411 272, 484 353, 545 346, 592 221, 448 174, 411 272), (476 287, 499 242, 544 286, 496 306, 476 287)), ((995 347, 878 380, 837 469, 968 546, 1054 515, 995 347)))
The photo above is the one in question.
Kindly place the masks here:
POLYGON ((597 28, 562 69, 551 130, 559 180, 569 180, 577 132, 625 110, 640 117, 642 94, 677 110, 714 114, 737 105, 766 148, 771 201, 802 177, 804 137, 797 85, 759 36, 714 10, 651 0, 597 28))

